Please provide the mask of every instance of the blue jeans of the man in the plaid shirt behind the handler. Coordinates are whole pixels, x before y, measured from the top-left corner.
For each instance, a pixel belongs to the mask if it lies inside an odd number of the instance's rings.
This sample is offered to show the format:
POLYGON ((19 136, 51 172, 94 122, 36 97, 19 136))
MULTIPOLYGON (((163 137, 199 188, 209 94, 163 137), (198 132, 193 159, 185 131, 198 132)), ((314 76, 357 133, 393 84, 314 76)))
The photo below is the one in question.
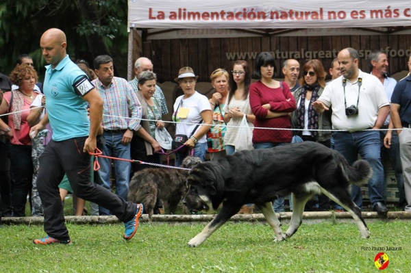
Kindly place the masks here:
MULTIPOLYGON (((109 133, 107 131, 104 131, 103 136, 105 138, 105 145, 103 146, 103 155, 108 155, 110 157, 119 157, 123 159, 130 159, 130 144, 121 144, 123 133, 109 133)), ((99 164, 99 175, 101 181, 103 181, 103 187, 105 187, 108 190, 111 190, 111 159, 99 157, 99 164)), ((113 165, 116 176, 116 194, 124 200, 127 200, 131 163, 122 160, 113 160, 113 165)), ((104 207, 100 206, 99 211, 100 215, 110 215, 110 211, 108 211, 108 209, 105 209, 104 207)))

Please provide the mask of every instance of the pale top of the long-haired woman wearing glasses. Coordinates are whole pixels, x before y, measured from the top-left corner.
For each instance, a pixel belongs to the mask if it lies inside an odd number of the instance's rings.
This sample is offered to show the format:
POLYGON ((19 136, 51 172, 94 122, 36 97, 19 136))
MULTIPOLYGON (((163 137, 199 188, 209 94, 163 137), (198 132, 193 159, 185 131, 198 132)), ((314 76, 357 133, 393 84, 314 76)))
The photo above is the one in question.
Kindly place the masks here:
MULTIPOLYGON (((235 97, 233 97, 231 100, 229 99, 229 96, 227 96, 227 101, 225 102, 224 105, 224 112, 228 113, 229 109, 238 107, 240 111, 244 114, 247 115, 252 115, 253 112, 251 111, 250 107, 250 100, 249 96, 247 96, 247 99, 243 100, 236 100, 235 97), (229 101, 229 103, 228 103, 229 101)), ((236 138, 238 134, 238 130, 240 128, 238 127, 230 127, 230 126, 240 126, 242 118, 232 118, 229 120, 227 123, 227 129, 225 131, 224 135, 224 144, 225 145, 232 145, 236 146, 236 138)), ((250 128, 254 128, 253 122, 247 122, 250 128)))

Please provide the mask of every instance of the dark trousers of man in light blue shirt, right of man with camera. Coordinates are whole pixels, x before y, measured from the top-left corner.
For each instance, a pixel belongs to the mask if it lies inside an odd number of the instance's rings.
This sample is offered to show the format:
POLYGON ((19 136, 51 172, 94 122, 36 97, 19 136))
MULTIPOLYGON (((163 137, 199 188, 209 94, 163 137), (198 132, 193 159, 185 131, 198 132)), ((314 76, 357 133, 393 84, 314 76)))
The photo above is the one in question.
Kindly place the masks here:
MULTIPOLYGON (((402 172, 401 159, 399 157, 399 140, 397 131, 393 131, 391 136, 390 148, 384 146, 384 138, 386 136, 386 131, 379 131, 381 136, 381 147, 382 147, 382 157, 388 157, 391 162, 391 166, 395 172, 395 180, 397 180, 397 187, 399 192, 399 205, 403 207, 406 205, 406 192, 404 190, 404 179, 402 172)), ((385 177, 385 176, 384 176, 385 177)), ((384 188, 385 190, 386 188, 384 188)), ((384 194, 385 196, 385 194, 384 194)))

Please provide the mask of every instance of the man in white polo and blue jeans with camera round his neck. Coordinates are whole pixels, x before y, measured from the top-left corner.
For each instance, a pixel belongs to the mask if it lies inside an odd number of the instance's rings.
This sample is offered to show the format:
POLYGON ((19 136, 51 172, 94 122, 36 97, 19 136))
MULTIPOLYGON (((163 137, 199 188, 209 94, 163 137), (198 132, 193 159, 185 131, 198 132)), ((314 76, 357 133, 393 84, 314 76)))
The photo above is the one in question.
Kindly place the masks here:
MULTIPOLYGON (((369 198, 373 211, 385 216, 388 209, 384 200, 384 169, 381 163, 379 131, 390 111, 384 86, 377 77, 358 68, 356 49, 338 53, 341 77, 325 87, 313 103, 316 112, 332 109, 332 127, 336 130, 335 149, 353 164, 358 154, 369 161, 373 177, 369 180, 369 198)), ((360 187, 351 185, 351 198, 362 209, 360 187)))

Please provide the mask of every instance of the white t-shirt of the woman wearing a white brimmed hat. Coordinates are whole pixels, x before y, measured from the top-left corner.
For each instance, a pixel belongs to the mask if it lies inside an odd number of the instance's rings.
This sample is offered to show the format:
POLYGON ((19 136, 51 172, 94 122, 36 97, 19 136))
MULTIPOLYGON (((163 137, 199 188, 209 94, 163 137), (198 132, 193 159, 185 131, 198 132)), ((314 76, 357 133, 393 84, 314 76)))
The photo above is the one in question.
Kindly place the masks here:
MULTIPOLYGON (((201 112, 210 110, 210 103, 208 102, 208 99, 206 96, 200 94, 199 92, 195 92, 192 94, 188 99, 183 99, 184 95, 179 96, 174 103, 173 109, 173 121, 179 122, 176 125, 175 128, 175 134, 176 135, 187 135, 188 138, 190 138, 192 130, 195 129, 197 124, 202 120, 201 118, 201 112), (180 108, 187 108, 188 109, 188 115, 187 118, 179 118, 178 117, 178 112, 176 113, 178 108, 178 111, 180 111, 180 108), (187 124, 187 123, 193 123, 193 124, 187 124)), ((203 123, 203 122, 201 122, 203 123)), ((199 129, 201 128, 201 125, 197 127, 197 130, 193 133, 195 134, 199 129)), ((203 135, 201 138, 198 140, 199 143, 205 143, 207 142, 207 137, 206 134, 203 135)))

